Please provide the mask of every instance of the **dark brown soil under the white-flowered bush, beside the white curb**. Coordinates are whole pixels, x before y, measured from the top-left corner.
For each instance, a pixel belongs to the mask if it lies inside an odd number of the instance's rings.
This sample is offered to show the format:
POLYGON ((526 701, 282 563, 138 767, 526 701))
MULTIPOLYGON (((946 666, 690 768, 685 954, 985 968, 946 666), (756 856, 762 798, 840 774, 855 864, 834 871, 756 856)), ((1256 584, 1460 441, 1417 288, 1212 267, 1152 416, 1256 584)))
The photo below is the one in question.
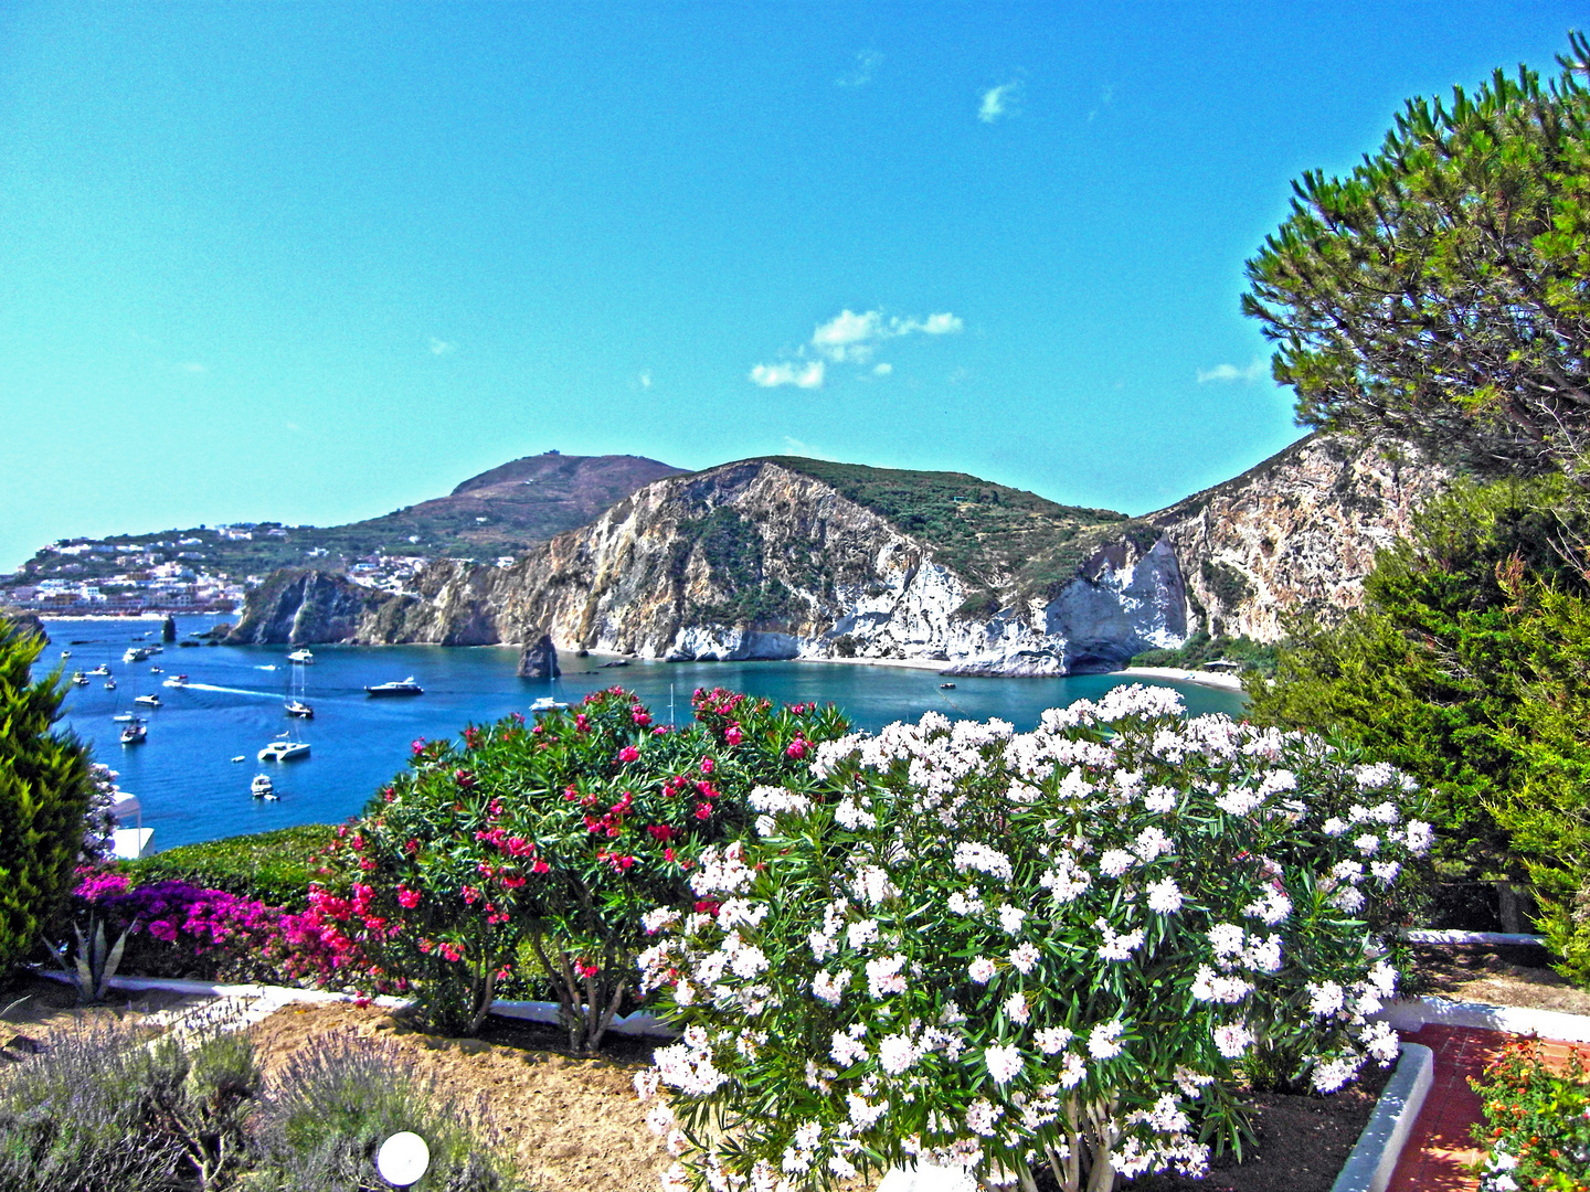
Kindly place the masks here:
POLYGON ((1369 1124, 1380 1090, 1394 1068, 1369 1065, 1355 1084, 1329 1097, 1253 1093, 1258 1146, 1243 1147, 1242 1163, 1227 1152, 1210 1162, 1205 1179, 1148 1176, 1124 1184, 1130 1192, 1331 1192, 1358 1135, 1369 1124))

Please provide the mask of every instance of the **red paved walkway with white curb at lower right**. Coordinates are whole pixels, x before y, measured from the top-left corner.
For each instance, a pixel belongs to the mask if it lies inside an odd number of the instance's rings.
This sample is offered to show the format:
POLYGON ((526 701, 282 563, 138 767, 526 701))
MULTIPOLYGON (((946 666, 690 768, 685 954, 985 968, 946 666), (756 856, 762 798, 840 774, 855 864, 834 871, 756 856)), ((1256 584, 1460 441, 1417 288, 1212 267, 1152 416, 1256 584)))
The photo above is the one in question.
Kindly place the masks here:
MULTIPOLYGON (((1476 1192, 1479 1176, 1468 1171, 1483 1157, 1469 1127, 1483 1120, 1480 1095, 1469 1087, 1485 1063, 1518 1036, 1499 1030, 1425 1025, 1402 1033, 1436 1052, 1436 1082, 1414 1124, 1386 1192, 1476 1192)), ((1550 1058, 1566 1058, 1574 1044, 1545 1039, 1550 1058)))

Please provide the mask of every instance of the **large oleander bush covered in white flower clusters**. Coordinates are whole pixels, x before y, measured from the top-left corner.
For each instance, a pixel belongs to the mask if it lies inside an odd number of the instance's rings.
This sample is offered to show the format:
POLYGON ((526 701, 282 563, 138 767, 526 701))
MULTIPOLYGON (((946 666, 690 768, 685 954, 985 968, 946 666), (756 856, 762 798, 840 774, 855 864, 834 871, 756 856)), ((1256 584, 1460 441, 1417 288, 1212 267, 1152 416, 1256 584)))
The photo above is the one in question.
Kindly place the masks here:
POLYGON ((696 909, 647 919, 671 1186, 929 1162, 1103 1192, 1200 1173, 1243 1070, 1329 1092, 1396 1057, 1380 930, 1431 833, 1394 771, 1142 687, 812 753, 703 850, 696 909))

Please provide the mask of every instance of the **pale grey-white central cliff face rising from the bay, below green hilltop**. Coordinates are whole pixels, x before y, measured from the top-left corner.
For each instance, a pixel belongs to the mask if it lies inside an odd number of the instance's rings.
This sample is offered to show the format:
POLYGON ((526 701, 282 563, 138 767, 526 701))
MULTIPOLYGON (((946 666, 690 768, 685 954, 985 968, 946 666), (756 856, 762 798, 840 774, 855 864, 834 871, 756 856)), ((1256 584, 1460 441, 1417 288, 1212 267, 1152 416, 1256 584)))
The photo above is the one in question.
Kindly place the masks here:
MULTIPOLYGON (((1119 520, 1119 518, 1116 518, 1119 520)), ((642 658, 922 658, 967 671, 1110 669, 1185 633, 1175 556, 1115 540, 1053 593, 983 602, 932 547, 770 461, 663 480, 512 567, 436 564, 361 642, 525 642, 642 658), (1003 604, 1003 607, 1000 607, 1003 604)))

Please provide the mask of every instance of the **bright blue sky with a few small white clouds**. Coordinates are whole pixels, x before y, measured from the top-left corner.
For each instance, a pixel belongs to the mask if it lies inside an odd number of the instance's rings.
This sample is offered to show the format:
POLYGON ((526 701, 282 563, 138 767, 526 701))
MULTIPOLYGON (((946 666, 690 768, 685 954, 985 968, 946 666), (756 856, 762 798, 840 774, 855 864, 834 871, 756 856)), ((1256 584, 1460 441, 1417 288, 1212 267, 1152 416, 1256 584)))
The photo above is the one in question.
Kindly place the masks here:
POLYGON ((1297 429, 1305 168, 1573 5, 0 10, 0 567, 506 459, 768 453, 1146 512, 1297 429))

